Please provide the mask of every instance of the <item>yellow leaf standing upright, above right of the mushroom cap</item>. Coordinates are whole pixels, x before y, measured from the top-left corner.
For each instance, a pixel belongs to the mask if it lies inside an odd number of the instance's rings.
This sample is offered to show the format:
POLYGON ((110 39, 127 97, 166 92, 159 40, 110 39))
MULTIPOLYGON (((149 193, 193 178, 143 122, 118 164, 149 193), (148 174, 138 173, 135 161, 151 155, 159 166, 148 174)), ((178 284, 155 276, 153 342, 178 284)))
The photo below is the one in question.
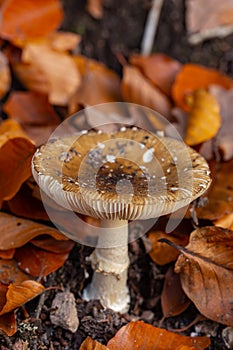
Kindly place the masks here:
POLYGON ((197 89, 188 97, 187 104, 191 110, 184 141, 194 146, 212 139, 221 126, 220 106, 216 98, 206 90, 197 89))

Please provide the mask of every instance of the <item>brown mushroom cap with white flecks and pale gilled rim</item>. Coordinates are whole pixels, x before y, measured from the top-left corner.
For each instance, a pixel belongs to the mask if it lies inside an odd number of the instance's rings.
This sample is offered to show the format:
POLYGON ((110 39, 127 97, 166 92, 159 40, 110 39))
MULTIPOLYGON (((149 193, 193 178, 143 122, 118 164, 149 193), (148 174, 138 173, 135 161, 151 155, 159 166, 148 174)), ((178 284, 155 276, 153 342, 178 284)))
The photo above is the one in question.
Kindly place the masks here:
POLYGON ((40 188, 74 212, 149 219, 188 205, 209 187, 208 164, 182 141, 138 128, 51 139, 32 160, 40 188))

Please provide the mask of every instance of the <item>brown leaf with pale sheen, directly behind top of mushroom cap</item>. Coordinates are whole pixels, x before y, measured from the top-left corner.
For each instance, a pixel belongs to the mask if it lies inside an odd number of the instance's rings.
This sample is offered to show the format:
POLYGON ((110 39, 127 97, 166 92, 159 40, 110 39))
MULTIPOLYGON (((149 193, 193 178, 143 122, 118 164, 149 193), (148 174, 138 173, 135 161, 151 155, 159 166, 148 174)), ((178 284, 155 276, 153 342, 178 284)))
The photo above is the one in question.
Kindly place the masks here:
POLYGON ((171 110, 169 99, 137 68, 124 66, 122 94, 126 102, 149 107, 169 119, 171 110))

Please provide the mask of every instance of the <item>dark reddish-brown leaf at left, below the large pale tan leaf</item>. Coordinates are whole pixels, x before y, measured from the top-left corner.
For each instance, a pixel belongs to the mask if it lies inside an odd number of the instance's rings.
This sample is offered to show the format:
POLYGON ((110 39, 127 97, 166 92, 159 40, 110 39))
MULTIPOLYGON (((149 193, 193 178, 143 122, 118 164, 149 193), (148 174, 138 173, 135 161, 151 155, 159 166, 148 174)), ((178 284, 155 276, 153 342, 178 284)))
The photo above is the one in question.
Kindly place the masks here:
POLYGON ((3 107, 8 117, 20 125, 58 125, 60 118, 48 97, 31 91, 12 91, 3 107))

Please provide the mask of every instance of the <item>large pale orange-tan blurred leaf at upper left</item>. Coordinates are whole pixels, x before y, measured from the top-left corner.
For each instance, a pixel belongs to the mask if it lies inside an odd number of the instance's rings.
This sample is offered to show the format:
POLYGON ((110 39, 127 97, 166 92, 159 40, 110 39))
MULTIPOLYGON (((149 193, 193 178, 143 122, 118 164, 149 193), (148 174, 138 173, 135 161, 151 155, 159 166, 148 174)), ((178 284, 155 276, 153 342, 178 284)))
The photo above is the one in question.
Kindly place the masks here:
POLYGON ((28 74, 34 71, 37 76, 29 75, 27 80, 25 76, 20 76, 20 71, 16 68, 21 82, 28 89, 48 93, 51 104, 67 105, 80 85, 80 74, 72 57, 65 52, 53 50, 47 44, 27 44, 22 52, 22 63, 25 70, 29 66, 28 74), (36 83, 40 80, 42 87, 36 83))

